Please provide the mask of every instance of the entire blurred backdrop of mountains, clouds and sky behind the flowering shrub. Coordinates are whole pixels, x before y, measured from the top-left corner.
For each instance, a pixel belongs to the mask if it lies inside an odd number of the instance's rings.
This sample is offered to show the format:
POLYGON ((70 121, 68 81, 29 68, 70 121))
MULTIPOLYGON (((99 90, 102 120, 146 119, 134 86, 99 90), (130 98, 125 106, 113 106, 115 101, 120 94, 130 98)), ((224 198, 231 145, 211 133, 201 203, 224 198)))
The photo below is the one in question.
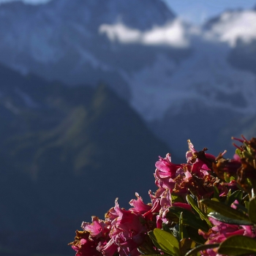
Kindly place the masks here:
POLYGON ((255 136, 256 1, 0 1, 0 255, 68 256, 154 163, 255 136))

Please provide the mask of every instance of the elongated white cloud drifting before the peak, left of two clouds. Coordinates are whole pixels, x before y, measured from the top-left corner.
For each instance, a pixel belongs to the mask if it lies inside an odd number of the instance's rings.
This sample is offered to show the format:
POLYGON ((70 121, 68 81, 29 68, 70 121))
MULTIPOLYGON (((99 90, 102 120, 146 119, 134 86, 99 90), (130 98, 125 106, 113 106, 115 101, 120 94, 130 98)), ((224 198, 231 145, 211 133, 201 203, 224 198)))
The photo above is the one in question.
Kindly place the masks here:
POLYGON ((142 45, 170 45, 176 48, 189 46, 186 30, 181 20, 174 20, 165 26, 155 26, 148 31, 130 29, 124 24, 102 24, 99 33, 107 34, 111 41, 140 43, 142 45))

